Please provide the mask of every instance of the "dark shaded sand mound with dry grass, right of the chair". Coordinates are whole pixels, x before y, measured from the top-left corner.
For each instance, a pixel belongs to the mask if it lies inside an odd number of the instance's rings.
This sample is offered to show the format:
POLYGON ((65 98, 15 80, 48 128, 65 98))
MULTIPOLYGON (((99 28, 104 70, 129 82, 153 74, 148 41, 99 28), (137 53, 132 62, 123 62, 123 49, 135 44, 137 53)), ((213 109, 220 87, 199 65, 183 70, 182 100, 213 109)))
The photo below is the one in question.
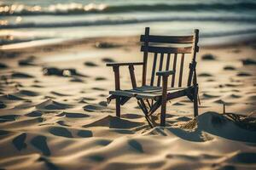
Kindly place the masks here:
POLYGON ((201 134, 209 133, 225 139, 256 143, 256 130, 248 127, 249 123, 245 123, 235 122, 217 112, 206 112, 189 122, 177 125, 177 128, 167 127, 167 129, 183 139, 195 141, 202 141, 201 139, 205 137, 201 134), (191 135, 191 138, 188 138, 188 135, 191 135), (198 136, 199 139, 195 136, 198 136))

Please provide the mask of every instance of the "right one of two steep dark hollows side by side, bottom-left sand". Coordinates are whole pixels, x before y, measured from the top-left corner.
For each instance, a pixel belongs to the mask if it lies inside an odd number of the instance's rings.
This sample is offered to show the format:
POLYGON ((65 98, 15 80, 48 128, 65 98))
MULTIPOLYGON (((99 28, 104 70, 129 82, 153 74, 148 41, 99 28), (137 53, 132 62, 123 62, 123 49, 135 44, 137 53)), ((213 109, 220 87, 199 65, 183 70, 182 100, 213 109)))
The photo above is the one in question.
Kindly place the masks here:
POLYGON ((45 136, 36 136, 31 140, 31 144, 40 150, 44 156, 50 156, 50 150, 46 142, 45 136))

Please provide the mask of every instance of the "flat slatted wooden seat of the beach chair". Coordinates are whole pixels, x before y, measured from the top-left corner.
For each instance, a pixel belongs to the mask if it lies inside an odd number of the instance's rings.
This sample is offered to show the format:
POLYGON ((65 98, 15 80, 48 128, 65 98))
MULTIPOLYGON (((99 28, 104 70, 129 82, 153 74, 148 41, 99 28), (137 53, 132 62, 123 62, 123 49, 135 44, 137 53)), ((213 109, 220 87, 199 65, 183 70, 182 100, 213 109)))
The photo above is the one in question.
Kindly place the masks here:
MULTIPOLYGON (((183 91, 186 88, 167 88, 167 94, 183 91)), ((138 99, 155 99, 156 97, 160 97, 162 95, 162 88, 155 86, 142 86, 128 90, 109 91, 109 94, 125 97, 136 97, 138 99)))

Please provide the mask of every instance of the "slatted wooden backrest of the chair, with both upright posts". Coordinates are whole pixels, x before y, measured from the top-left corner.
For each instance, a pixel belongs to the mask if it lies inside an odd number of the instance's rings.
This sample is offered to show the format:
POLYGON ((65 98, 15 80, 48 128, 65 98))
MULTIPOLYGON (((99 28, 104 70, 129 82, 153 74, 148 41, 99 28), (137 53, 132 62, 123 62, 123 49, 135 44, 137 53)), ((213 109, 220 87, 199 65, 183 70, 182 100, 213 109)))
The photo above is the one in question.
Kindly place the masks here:
POLYGON ((154 56, 151 67, 150 86, 161 85, 161 78, 156 77, 156 69, 158 71, 175 71, 175 74, 169 77, 171 80, 171 87, 190 86, 192 77, 195 72, 195 58, 199 50, 197 46, 199 30, 195 30, 194 35, 191 36, 154 36, 149 35, 149 27, 145 28, 145 35, 141 36, 141 51, 143 51, 143 85, 147 84, 147 70, 149 60, 148 56, 154 56), (186 56, 185 56, 186 54, 186 56), (187 59, 190 56, 190 59, 187 59), (160 58, 159 58, 160 57, 160 58), (186 58, 186 59, 185 59, 186 58), (158 62, 159 60, 159 62, 158 62), (191 61, 186 67, 188 79, 183 81, 183 67, 184 62, 191 61), (159 63, 159 65, 157 64, 159 63), (158 65, 158 66, 157 66, 158 65), (164 67, 164 68, 163 68, 164 67), (156 84, 154 79, 157 79, 156 84))

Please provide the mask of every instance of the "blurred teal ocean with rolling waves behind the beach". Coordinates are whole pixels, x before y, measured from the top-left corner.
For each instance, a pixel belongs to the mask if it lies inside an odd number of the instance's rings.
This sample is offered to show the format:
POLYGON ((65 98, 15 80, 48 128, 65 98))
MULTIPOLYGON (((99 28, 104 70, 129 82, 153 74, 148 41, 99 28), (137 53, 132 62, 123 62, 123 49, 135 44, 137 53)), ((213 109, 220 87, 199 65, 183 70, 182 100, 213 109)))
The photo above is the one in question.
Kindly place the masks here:
POLYGON ((0 45, 151 33, 190 34, 201 43, 256 37, 254 0, 2 0, 0 45))

